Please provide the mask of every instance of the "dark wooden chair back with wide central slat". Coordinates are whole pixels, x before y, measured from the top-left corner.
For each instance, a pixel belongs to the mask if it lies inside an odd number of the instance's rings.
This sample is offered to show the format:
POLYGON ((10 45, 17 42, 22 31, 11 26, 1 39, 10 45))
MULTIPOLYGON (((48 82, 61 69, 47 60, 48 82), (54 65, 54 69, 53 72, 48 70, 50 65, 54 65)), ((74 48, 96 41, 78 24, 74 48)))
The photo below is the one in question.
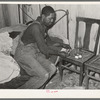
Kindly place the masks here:
POLYGON ((100 36, 100 20, 76 17, 75 48, 80 47, 97 53, 100 36))

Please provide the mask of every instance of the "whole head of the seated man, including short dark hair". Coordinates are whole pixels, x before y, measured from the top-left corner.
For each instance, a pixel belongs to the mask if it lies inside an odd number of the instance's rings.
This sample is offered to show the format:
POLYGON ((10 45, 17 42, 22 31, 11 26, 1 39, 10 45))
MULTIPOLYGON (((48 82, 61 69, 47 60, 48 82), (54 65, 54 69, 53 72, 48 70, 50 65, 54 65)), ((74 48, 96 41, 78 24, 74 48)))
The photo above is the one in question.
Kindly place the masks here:
POLYGON ((50 6, 45 6, 41 12, 42 22, 45 26, 50 27, 53 26, 56 20, 56 13, 54 9, 50 6))

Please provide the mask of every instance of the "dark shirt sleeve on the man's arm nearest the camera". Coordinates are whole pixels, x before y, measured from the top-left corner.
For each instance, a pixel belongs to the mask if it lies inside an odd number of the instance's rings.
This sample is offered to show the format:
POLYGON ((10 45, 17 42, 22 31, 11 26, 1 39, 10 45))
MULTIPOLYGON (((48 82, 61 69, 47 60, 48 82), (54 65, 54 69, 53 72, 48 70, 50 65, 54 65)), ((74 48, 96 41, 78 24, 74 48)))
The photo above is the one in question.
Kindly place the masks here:
POLYGON ((45 40, 43 38, 43 34, 41 33, 40 26, 38 24, 31 25, 30 27, 31 27, 31 30, 32 30, 32 35, 33 35, 41 53, 43 53, 47 57, 49 55, 59 55, 59 51, 52 50, 51 48, 49 48, 46 45, 45 40))

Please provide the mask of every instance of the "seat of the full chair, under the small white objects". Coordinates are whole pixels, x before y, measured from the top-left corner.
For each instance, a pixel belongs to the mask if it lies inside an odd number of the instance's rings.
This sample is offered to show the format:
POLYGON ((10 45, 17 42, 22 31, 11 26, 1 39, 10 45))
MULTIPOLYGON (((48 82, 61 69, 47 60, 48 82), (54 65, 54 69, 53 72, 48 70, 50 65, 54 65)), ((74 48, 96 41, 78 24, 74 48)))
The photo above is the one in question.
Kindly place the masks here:
POLYGON ((82 66, 83 63, 85 63, 87 60, 89 60, 90 58, 92 58, 94 56, 94 53, 91 52, 91 51, 87 51, 87 50, 80 50, 79 51, 79 54, 82 55, 82 58, 75 58, 75 55, 76 55, 76 49, 73 49, 71 52, 70 52, 70 55, 65 59, 66 61, 70 62, 70 63, 73 63, 75 65, 80 65, 82 66))

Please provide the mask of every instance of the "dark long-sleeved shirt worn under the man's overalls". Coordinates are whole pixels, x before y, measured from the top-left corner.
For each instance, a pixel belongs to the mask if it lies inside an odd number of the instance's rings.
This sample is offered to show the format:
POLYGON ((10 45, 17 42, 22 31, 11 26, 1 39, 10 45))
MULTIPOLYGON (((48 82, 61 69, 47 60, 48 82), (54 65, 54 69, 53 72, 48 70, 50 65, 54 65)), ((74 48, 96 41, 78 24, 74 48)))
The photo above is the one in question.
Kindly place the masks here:
POLYGON ((49 57, 50 55, 58 55, 58 50, 53 50, 51 47, 47 46, 45 37, 46 37, 46 27, 40 22, 33 22, 28 28, 24 31, 24 34, 21 38, 22 42, 27 45, 30 43, 37 43, 37 46, 41 53, 49 57))

